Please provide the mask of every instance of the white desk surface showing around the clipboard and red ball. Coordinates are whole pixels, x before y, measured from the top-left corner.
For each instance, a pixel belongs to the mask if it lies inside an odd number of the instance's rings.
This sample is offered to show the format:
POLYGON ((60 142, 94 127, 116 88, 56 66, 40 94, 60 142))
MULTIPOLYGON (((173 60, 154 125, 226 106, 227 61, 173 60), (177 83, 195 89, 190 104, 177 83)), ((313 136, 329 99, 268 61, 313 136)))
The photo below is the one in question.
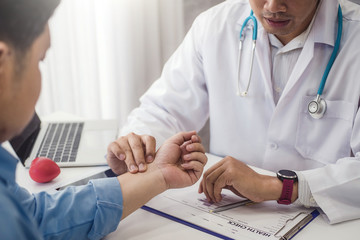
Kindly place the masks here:
MULTIPOLYGON (((18 183, 29 191, 55 191, 55 189, 88 178, 107 170, 108 167, 66 168, 53 182, 38 184, 32 181, 28 169, 19 165, 17 168, 18 183)), ((294 240, 326 239, 338 240, 342 238, 358 239, 357 229, 360 219, 345 223, 329 225, 322 216, 317 217, 294 240)), ((218 239, 207 233, 190 228, 180 223, 160 217, 153 213, 139 209, 123 220, 117 230, 104 239, 106 240, 183 240, 183 239, 218 239)))

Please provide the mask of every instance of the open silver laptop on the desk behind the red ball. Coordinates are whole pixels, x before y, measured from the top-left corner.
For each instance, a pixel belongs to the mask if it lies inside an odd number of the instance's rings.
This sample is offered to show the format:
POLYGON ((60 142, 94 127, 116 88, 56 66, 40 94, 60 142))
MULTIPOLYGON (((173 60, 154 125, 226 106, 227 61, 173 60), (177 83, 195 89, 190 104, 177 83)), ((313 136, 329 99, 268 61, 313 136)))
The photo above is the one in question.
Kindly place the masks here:
POLYGON ((50 158, 60 167, 100 166, 107 164, 107 147, 117 130, 116 120, 40 122, 35 115, 10 143, 25 167, 36 157, 50 158))

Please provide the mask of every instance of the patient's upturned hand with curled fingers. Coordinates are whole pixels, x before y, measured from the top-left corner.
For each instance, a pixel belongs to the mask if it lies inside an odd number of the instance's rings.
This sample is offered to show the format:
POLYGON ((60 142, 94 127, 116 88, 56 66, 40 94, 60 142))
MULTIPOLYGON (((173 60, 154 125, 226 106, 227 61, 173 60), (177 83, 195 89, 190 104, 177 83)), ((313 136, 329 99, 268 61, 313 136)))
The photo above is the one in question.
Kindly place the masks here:
POLYGON ((169 138, 156 152, 154 165, 160 169, 166 188, 181 188, 197 182, 207 162, 205 148, 196 132, 169 138))

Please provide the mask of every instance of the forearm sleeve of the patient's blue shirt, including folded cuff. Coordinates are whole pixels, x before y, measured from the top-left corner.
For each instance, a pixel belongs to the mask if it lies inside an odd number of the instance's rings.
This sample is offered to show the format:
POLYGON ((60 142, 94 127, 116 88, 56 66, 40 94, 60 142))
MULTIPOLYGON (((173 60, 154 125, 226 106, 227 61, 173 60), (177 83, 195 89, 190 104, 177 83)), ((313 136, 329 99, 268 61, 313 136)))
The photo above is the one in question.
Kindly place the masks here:
POLYGON ((45 239, 100 239, 115 231, 121 219, 123 199, 116 178, 92 180, 55 194, 29 194, 15 188, 16 198, 45 239))

